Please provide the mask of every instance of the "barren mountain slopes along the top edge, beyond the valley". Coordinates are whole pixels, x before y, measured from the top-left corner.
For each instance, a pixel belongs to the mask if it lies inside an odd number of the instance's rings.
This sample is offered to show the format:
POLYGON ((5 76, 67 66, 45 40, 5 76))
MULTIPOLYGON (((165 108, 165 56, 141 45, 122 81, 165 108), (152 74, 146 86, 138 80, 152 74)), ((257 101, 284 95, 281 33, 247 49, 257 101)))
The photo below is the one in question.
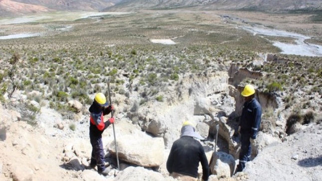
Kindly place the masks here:
POLYGON ((194 8, 200 10, 322 10, 318 0, 0 0, 0 15, 43 11, 135 11, 194 8))

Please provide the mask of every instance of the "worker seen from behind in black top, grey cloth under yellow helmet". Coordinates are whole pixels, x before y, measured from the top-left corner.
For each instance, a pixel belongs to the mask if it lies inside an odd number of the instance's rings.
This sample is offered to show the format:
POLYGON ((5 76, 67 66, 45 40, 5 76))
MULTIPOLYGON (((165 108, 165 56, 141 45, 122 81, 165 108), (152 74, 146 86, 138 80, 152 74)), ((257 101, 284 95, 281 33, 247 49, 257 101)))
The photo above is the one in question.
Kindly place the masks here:
POLYGON ((189 121, 183 123, 180 139, 176 140, 171 148, 167 170, 170 175, 181 181, 197 181, 199 162, 202 165, 202 180, 209 177, 209 165, 199 140, 204 140, 189 121))

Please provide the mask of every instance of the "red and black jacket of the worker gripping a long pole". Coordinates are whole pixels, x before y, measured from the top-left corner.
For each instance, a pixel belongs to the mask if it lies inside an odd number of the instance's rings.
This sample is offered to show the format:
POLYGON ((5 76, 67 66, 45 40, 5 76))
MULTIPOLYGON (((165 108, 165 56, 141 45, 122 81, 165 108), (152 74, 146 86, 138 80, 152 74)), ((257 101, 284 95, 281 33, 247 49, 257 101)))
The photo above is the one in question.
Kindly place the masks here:
POLYGON ((90 112, 89 136, 101 138, 104 130, 111 124, 109 121, 104 122, 103 117, 111 112, 111 106, 100 107, 96 101, 93 101, 88 111, 90 112))

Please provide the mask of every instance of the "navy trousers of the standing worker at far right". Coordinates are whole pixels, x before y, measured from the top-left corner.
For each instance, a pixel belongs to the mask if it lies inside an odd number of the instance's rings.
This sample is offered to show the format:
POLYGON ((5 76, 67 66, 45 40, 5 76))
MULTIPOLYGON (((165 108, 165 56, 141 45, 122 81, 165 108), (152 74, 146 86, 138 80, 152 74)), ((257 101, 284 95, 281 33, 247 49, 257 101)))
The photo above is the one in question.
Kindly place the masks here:
POLYGON ((242 147, 236 172, 242 172, 245 169, 246 162, 250 161, 252 151, 250 138, 251 136, 248 134, 241 134, 242 147))

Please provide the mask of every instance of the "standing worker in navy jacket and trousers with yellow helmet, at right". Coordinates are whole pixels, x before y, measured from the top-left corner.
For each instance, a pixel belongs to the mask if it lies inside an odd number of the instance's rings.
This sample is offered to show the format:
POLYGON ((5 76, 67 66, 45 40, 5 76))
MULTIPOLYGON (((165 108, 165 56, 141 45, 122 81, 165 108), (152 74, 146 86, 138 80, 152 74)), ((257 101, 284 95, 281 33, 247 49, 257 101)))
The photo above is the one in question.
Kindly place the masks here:
POLYGON ((245 103, 238 127, 238 132, 241 135, 242 147, 239 154, 239 164, 236 173, 242 172, 246 162, 250 161, 251 143, 256 139, 256 135, 260 129, 262 116, 261 104, 255 99, 255 88, 252 85, 247 84, 241 94, 245 99, 245 103))

